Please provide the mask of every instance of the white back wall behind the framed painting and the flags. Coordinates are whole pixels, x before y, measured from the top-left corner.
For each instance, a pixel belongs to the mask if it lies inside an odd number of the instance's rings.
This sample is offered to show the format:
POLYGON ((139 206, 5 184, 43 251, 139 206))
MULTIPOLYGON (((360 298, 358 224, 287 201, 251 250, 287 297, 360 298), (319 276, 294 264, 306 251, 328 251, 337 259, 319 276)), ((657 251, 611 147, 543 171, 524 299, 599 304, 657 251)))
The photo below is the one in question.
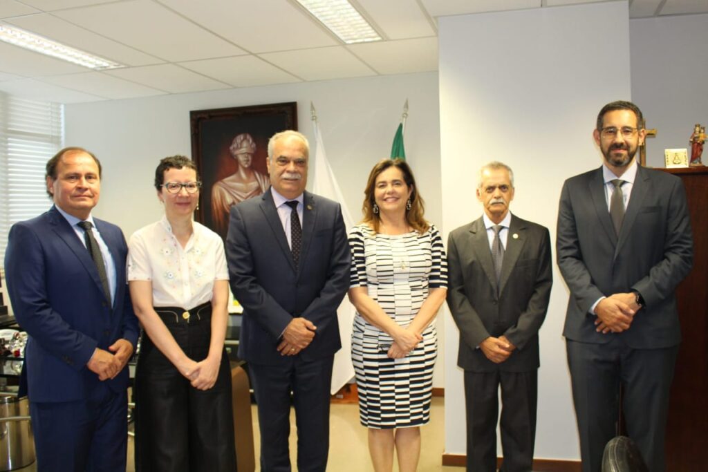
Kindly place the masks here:
MULTIPOLYGON (((405 145, 426 199, 426 217, 440 224, 440 127, 435 73, 309 82, 228 91, 113 100, 66 107, 67 145, 93 151, 103 165, 98 217, 126 237, 159 219, 152 187, 159 159, 191 153, 190 110, 297 101, 299 130, 314 147, 310 102, 317 110, 327 157, 354 219, 361 215, 366 179, 389 157, 403 105, 409 99, 405 145)), ((314 151, 314 149, 312 149, 314 151)), ((312 184, 310 169, 310 184, 312 184)), ((442 352, 442 330, 440 330, 442 352)), ((442 387, 442 355, 433 384, 442 387)))

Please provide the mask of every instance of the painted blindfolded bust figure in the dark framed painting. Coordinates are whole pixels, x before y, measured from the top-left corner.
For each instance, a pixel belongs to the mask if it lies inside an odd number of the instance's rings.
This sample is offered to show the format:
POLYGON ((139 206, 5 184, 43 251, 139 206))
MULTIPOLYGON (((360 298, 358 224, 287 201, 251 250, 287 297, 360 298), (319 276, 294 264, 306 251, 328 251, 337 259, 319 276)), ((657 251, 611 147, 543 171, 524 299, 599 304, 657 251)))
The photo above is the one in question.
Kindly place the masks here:
POLYGON ((270 185, 268 175, 252 167, 256 142, 248 133, 236 135, 229 152, 239 163, 235 173, 223 178, 212 187, 212 221, 214 231, 226 235, 229 229, 229 212, 232 205, 261 195, 270 185))

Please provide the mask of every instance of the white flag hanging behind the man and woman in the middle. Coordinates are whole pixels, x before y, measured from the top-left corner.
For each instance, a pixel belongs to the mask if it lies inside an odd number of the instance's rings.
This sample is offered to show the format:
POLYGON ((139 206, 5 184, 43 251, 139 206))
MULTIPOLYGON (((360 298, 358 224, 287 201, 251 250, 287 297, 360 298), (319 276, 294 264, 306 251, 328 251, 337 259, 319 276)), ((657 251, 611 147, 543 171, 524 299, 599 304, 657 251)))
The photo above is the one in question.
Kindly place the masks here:
MULTIPOLYGON (((344 225, 349 229, 353 226, 354 221, 349 214, 347 205, 344 202, 342 191, 337 184, 332 168, 329 166, 327 156, 324 154, 324 144, 322 137, 317 128, 317 118, 314 116, 314 108, 312 116, 312 127, 314 129, 316 150, 314 154, 314 185, 312 191, 316 195, 329 198, 335 202, 339 202, 342 207, 342 217, 344 225)), ((332 369, 332 385, 331 393, 337 393, 352 377, 354 376, 354 366, 351 358, 352 344, 352 323, 354 320, 354 306, 350 303, 348 297, 344 297, 342 303, 337 309, 337 317, 339 318, 339 335, 342 340, 342 348, 334 355, 334 366, 332 369)))

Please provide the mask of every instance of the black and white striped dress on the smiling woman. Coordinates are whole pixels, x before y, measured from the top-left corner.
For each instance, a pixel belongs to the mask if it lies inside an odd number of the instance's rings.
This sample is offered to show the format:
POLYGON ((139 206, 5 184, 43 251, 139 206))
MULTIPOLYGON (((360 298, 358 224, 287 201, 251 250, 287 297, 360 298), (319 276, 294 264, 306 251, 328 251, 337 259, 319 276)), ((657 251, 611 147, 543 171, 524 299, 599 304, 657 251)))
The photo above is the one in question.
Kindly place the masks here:
MULTIPOLYGON (((400 326, 411 323, 428 289, 447 287, 445 248, 435 226, 424 234, 389 236, 360 224, 350 231, 349 243, 351 287, 367 287, 369 296, 400 326)), ((392 343, 387 333, 356 314, 352 362, 361 423, 377 429, 424 425, 430 420, 438 349, 434 323, 403 359, 387 357, 392 343)))

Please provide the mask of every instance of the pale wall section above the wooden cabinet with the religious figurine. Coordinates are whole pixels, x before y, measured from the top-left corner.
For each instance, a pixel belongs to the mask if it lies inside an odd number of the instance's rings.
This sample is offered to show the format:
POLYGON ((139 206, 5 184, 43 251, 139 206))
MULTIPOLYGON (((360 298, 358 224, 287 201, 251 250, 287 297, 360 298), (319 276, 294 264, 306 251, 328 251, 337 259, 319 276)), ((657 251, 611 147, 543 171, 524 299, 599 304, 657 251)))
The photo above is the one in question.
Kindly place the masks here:
POLYGON ((690 158, 693 126, 708 125, 708 14, 632 20, 629 33, 632 97, 657 129, 646 164, 664 167, 664 149, 687 148, 690 158))

